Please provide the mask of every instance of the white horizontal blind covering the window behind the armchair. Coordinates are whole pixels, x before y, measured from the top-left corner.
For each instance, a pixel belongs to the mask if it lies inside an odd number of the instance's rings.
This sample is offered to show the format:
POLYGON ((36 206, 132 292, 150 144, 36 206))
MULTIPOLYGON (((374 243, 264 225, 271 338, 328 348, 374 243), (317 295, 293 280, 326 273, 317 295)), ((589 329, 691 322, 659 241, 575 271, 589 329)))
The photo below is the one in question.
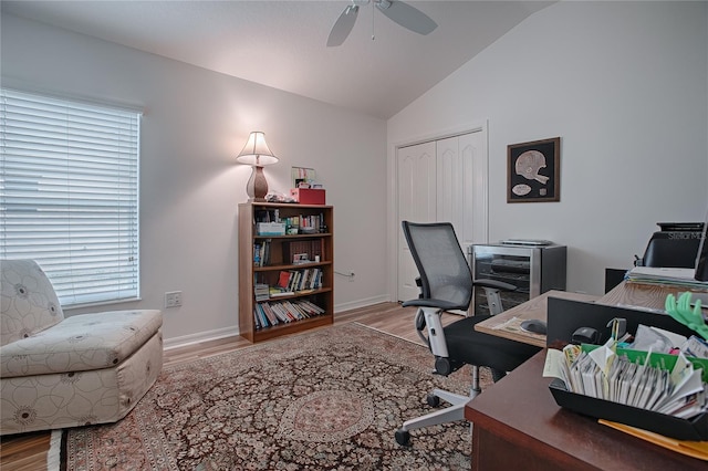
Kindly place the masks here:
POLYGON ((0 90, 0 257, 63 307, 139 296, 140 114, 0 90))

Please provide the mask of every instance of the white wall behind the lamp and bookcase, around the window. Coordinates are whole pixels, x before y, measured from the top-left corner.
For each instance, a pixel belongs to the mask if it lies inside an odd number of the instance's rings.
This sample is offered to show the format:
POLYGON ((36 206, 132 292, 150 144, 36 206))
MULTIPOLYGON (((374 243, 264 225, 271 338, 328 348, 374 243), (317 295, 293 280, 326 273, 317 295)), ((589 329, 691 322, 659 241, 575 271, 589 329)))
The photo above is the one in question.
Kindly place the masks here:
MULTIPOLYGON (((250 167, 235 163, 263 130, 280 163, 312 167, 335 212, 336 310, 387 297, 385 122, 181 62, 4 14, 6 86, 144 107, 140 166, 142 295, 115 308, 165 310, 169 345, 238 331, 237 205, 250 167)), ((82 311, 70 311, 73 315, 82 311)))

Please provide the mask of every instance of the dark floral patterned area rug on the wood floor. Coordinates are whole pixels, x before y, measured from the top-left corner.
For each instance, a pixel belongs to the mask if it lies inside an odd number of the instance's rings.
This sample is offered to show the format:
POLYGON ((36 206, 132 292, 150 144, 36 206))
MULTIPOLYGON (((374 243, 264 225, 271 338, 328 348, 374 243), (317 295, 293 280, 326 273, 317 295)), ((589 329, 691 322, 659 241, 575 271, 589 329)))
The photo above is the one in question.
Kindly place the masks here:
POLYGON ((431 375, 431 365, 420 345, 344 324, 167 366, 122 421, 69 429, 63 464, 69 471, 469 469, 465 421, 414 430, 410 447, 394 439, 405 420, 430 411, 427 391, 467 394, 468 370, 444 378, 431 375))

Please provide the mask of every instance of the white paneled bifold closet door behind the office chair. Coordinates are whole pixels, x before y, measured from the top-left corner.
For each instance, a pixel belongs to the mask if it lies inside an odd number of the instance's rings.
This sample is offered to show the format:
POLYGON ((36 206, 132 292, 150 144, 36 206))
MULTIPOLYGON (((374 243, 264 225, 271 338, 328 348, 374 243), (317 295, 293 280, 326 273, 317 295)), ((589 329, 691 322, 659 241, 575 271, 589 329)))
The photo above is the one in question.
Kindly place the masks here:
POLYGON ((400 221, 448 221, 467 245, 487 242, 487 135, 477 130, 397 150, 398 300, 418 296, 400 221))

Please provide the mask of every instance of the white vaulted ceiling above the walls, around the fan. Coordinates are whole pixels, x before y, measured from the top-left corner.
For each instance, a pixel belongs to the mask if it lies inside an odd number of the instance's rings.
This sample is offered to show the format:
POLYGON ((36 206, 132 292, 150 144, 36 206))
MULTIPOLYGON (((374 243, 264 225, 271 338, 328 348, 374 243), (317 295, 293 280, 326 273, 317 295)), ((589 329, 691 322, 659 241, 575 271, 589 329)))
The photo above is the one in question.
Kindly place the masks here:
MULTIPOLYGON (((395 0, 394 0, 395 1, 395 0)), ((326 41, 347 0, 2 1, 12 13, 215 72, 389 118, 551 1, 408 1, 420 35, 361 4, 344 43, 326 41)))

